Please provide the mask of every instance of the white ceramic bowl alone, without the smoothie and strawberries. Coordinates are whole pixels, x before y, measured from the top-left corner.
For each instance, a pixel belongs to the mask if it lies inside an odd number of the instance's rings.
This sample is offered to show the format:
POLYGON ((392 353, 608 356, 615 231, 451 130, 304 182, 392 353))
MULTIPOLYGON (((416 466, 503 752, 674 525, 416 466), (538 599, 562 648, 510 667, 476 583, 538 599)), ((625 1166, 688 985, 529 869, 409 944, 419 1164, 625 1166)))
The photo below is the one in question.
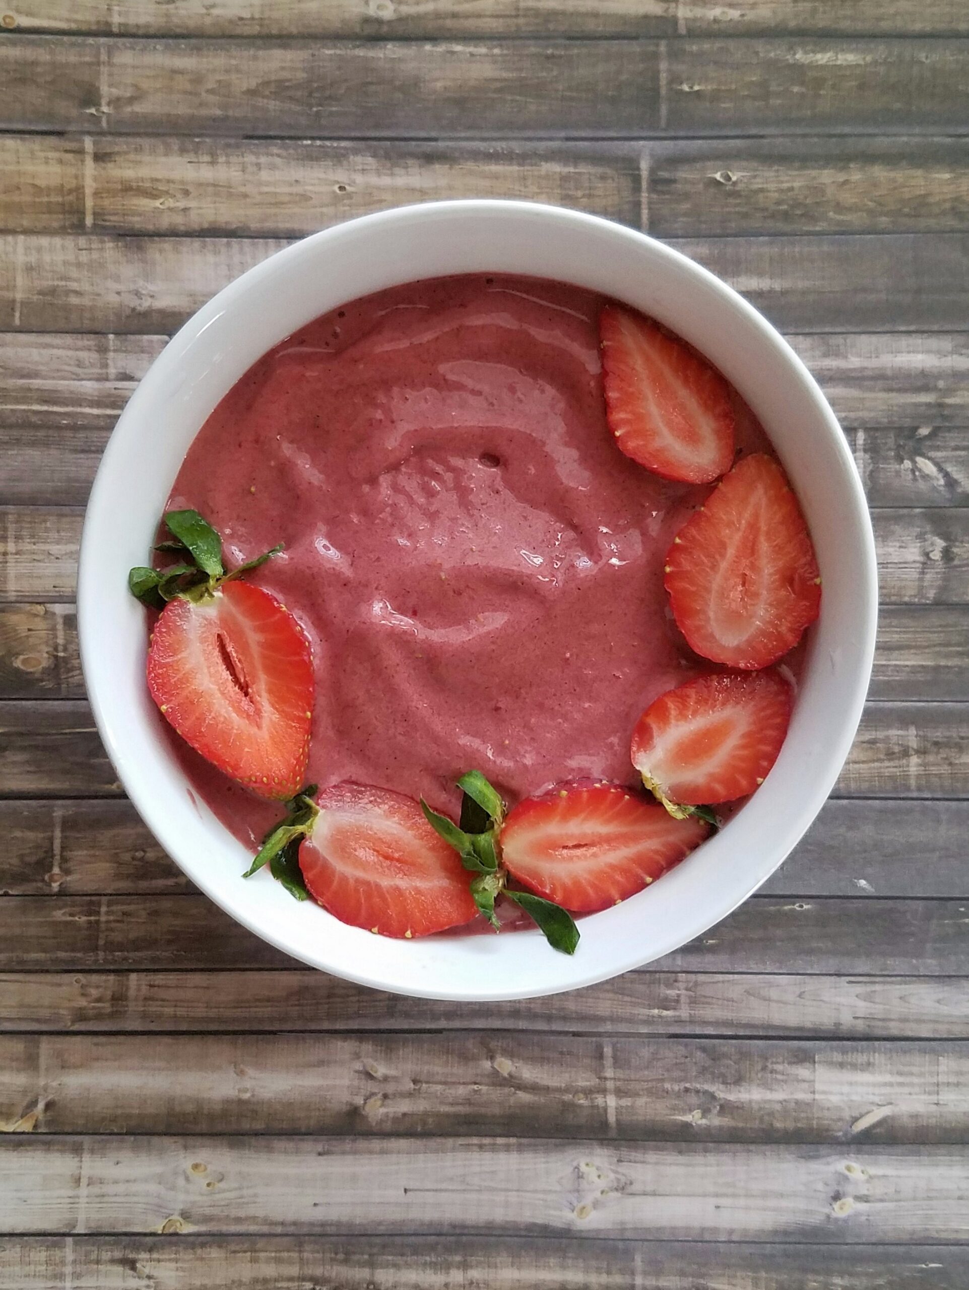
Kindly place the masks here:
POLYGON ((111 436, 88 504, 77 622, 107 752, 159 842, 227 913, 306 964, 427 998, 525 998, 604 980, 706 931, 773 873, 817 815, 861 717, 875 644, 875 543, 844 435, 778 333, 704 268, 643 233, 555 206, 403 206, 307 237, 249 270, 159 356, 111 436), (194 804, 159 737, 145 684, 145 611, 128 593, 148 562, 182 458, 203 422, 268 348, 320 313, 445 273, 532 273, 624 301, 690 341, 737 386, 800 497, 823 579, 821 619, 781 756, 717 836, 662 881, 581 921, 574 957, 537 931, 390 940, 298 904, 194 804))

